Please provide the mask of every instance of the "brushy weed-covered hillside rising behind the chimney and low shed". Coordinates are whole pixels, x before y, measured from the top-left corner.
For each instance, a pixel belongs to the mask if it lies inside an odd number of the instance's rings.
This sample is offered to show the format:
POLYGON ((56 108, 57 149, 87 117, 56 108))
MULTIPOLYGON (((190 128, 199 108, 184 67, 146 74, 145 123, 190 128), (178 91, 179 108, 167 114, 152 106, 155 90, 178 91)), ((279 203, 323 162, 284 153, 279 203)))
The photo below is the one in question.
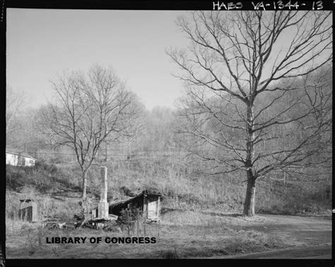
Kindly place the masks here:
MULTIPOLYGON (((163 194, 162 209, 241 213, 245 185, 233 175, 197 175, 180 161, 167 157, 107 163, 108 200, 126 199, 127 190, 163 194), (126 189, 126 190, 125 190, 126 189)), ((242 177, 242 175, 241 175, 242 177)), ((280 179, 281 177, 276 177, 280 179)), ((275 179, 275 178, 273 178, 275 179)), ((90 170, 88 197, 99 201, 100 168, 90 170)), ((6 216, 17 216, 19 199, 37 201, 40 216, 73 218, 79 212, 80 170, 76 165, 37 162, 34 167, 6 166, 6 216)), ((257 213, 325 215, 331 212, 322 182, 259 180, 257 213)))

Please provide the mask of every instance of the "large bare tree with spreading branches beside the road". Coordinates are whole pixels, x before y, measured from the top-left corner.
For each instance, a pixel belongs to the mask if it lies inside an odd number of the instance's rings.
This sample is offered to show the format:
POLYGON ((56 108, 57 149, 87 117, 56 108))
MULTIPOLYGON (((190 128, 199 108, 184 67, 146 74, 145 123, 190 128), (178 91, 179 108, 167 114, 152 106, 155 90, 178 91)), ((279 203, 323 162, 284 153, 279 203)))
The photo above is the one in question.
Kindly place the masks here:
POLYGON ((309 77, 331 63, 331 12, 194 12, 177 25, 190 40, 167 51, 187 88, 180 132, 212 173, 246 173, 243 214, 254 216, 257 178, 317 164, 331 142, 331 90, 309 77))

